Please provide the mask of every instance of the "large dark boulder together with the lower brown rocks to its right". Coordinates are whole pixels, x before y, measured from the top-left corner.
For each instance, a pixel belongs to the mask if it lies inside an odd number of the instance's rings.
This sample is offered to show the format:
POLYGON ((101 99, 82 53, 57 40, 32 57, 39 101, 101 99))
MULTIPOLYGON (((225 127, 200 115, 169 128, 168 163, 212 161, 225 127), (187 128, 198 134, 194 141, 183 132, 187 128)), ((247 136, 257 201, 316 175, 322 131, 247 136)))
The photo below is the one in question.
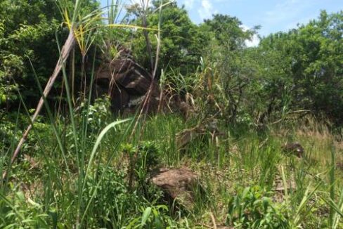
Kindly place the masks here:
POLYGON ((186 98, 161 91, 157 77, 139 65, 129 49, 123 46, 117 49, 116 58, 101 60, 93 81, 93 98, 109 96, 115 114, 132 114, 143 108, 150 113, 163 110, 189 117, 192 105, 186 98))

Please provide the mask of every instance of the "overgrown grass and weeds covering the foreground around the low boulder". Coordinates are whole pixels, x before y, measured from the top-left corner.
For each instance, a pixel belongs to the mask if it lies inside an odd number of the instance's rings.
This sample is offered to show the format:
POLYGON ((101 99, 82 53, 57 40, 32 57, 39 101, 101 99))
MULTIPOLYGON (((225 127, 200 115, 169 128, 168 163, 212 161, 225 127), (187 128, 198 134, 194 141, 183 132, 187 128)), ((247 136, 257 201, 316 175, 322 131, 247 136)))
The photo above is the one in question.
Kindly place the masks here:
POLYGON ((85 141, 84 129, 77 128, 83 131, 77 131, 75 146, 70 124, 60 120, 58 129, 66 133, 63 150, 51 126, 37 124, 36 139, 22 150, 20 163, 13 165, 2 188, 1 227, 342 227, 342 165, 335 164, 342 159, 342 146, 324 126, 289 124, 264 133, 222 126, 226 137, 203 136, 178 150, 176 133, 193 126, 194 120, 185 122, 174 114, 150 117, 140 139, 136 132, 129 140, 130 123, 113 126, 96 151, 104 124, 90 124, 85 141), (301 141, 306 155, 285 155, 285 139, 301 141), (76 148, 81 149, 79 155, 76 148), (139 156, 130 186, 135 148, 139 156), (160 191, 146 182, 154 166, 196 171, 203 190, 196 193, 194 204, 174 209, 164 202, 160 191), (338 202, 331 202, 330 192, 338 202))

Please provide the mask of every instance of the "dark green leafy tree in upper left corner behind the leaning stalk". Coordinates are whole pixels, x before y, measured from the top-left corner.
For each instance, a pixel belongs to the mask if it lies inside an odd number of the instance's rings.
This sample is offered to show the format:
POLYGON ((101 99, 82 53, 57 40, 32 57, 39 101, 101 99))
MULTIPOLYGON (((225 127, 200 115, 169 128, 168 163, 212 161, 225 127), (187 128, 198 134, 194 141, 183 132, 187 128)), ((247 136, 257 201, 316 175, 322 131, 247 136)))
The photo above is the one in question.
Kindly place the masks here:
MULTIPOLYGON (((95 0, 89 0, 83 11, 97 6, 95 0)), ((61 22, 55 0, 0 2, 0 107, 18 102, 16 88, 27 106, 36 105, 40 94, 30 61, 39 81, 45 85, 59 56, 56 34, 61 40, 67 36, 61 22)), ((55 88, 60 89, 60 85, 55 88)))

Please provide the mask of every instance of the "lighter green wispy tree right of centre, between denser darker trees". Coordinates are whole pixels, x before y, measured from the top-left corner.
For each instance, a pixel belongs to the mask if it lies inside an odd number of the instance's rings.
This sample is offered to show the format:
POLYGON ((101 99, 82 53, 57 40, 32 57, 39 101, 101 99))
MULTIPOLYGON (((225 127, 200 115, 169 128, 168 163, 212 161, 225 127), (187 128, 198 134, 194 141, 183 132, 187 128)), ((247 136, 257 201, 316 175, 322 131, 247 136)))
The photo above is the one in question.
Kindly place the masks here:
POLYGON ((214 109, 219 107, 228 122, 235 122, 243 112, 242 102, 254 73, 245 41, 252 39, 257 29, 245 30, 238 18, 220 14, 200 25, 208 41, 202 55, 209 69, 214 71, 208 76, 207 88, 212 94, 214 109))

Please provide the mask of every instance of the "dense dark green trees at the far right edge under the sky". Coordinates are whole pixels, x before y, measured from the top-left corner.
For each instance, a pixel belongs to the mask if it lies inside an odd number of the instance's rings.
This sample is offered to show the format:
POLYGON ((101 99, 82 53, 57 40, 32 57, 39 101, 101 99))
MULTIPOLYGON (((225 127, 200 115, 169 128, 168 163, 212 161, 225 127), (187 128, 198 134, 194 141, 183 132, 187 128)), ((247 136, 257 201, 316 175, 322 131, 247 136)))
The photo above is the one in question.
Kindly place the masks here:
POLYGON ((293 110, 310 110, 342 123, 342 23, 342 11, 322 11, 307 25, 262 39, 256 60, 273 110, 280 110, 287 93, 293 110))

